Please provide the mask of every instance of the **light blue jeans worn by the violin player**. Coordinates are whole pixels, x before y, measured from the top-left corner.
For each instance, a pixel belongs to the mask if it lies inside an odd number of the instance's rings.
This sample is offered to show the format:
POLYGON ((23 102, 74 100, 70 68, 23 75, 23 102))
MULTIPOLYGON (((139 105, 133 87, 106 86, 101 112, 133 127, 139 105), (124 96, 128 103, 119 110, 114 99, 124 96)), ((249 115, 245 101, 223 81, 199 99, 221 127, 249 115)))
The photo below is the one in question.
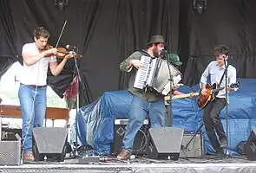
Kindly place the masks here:
POLYGON ((33 127, 43 126, 43 119, 46 113, 46 87, 37 88, 36 91, 36 88, 20 84, 18 97, 23 117, 23 150, 24 152, 31 152, 32 129, 33 127))

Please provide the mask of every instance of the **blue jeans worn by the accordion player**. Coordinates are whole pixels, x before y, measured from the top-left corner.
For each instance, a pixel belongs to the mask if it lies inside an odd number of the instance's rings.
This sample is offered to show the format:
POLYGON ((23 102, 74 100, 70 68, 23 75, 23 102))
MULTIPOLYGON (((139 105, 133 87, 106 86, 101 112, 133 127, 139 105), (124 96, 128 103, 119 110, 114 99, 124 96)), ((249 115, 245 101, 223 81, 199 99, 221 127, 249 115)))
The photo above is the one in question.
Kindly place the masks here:
POLYGON ((164 99, 148 102, 134 95, 130 112, 128 113, 128 126, 122 140, 122 148, 132 151, 135 135, 141 129, 144 120, 148 117, 150 127, 162 127, 165 125, 164 99))

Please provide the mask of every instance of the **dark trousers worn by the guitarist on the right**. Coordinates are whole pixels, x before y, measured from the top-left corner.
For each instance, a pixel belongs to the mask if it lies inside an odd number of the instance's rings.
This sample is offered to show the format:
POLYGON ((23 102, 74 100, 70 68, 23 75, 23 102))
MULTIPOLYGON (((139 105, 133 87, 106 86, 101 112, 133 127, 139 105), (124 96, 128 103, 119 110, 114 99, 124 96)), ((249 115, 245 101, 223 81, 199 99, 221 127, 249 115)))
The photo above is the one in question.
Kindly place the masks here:
POLYGON ((212 102, 209 102, 204 108, 204 123, 207 131, 207 136, 213 145, 215 151, 220 149, 220 143, 216 137, 217 132, 219 139, 226 138, 223 125, 220 121, 220 112, 226 106, 226 99, 216 98, 212 102))

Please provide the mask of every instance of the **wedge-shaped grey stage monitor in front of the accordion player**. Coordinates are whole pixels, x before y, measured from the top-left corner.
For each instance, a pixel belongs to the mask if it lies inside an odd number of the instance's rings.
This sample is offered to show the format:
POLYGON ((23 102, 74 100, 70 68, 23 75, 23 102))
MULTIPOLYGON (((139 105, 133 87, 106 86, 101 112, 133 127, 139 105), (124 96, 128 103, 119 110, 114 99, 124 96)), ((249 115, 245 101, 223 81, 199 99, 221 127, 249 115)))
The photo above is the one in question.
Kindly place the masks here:
POLYGON ((183 133, 183 129, 175 127, 150 128, 148 130, 148 158, 178 160, 183 133))

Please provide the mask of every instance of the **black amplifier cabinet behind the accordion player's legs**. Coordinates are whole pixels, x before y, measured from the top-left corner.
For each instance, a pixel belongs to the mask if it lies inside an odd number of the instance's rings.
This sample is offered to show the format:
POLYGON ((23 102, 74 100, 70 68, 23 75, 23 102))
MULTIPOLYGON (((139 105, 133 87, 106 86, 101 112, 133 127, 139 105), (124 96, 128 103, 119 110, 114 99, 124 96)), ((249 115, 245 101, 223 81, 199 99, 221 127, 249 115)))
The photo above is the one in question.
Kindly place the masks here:
MULTIPOLYGON (((114 126, 114 142, 111 144, 111 153, 117 155, 121 151, 122 138, 124 137, 128 119, 115 119, 114 126)), ((146 155, 147 141, 148 141, 148 119, 144 120, 140 131, 135 136, 132 153, 135 155, 146 155)))

